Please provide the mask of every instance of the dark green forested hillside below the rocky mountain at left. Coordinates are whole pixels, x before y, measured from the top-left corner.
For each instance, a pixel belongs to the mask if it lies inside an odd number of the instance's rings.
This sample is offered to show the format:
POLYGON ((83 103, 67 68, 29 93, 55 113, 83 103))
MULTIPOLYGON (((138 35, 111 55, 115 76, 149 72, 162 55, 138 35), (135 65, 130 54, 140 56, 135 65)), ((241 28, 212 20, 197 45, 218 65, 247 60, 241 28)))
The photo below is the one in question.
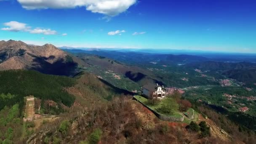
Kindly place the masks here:
POLYGON ((69 77, 45 75, 36 71, 8 70, 0 72, 0 109, 5 105, 21 103, 23 97, 33 95, 40 99, 50 99, 71 106, 75 98, 63 90, 70 87, 75 80, 69 77), (13 96, 4 96, 10 93, 13 96))

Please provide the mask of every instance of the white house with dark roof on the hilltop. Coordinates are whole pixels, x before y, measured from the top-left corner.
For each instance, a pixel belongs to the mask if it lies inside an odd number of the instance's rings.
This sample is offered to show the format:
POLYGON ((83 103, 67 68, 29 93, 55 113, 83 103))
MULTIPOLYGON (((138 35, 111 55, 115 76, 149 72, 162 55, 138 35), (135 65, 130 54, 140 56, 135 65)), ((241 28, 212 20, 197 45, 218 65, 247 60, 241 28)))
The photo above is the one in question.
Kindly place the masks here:
POLYGON ((147 99, 165 98, 165 88, 163 88, 163 85, 147 83, 142 87, 142 91, 147 99))

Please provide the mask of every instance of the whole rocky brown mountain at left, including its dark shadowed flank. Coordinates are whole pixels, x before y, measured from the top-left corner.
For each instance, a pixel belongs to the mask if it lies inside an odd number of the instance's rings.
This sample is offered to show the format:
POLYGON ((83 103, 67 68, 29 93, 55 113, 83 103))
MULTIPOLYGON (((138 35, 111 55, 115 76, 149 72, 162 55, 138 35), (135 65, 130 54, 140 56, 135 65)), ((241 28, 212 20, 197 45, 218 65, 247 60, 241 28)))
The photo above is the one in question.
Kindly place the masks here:
POLYGON ((67 70, 72 71, 75 63, 67 61, 67 57, 67 53, 51 44, 35 46, 22 41, 0 41, 0 70, 34 69, 46 74, 69 75, 67 70))

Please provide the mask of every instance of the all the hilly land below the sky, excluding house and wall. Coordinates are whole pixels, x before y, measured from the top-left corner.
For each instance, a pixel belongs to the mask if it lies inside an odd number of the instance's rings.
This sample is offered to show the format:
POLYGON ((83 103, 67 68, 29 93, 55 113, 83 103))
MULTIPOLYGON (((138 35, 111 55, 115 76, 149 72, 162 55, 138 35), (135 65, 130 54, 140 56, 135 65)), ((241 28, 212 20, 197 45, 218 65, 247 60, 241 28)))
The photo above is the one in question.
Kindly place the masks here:
POLYGON ((227 74, 254 69, 253 63, 100 50, 78 53, 20 41, 2 41, 1 45, 0 65, 8 64, 0 67, 0 138, 4 142, 155 143, 158 137, 163 143, 170 139, 176 143, 254 141, 254 135, 248 134, 256 129, 254 77, 248 80, 246 73, 243 77, 227 74), (20 61, 26 61, 26 67, 18 67, 20 61), (147 83, 163 85, 168 98, 156 102, 141 99, 158 113, 184 117, 184 121, 160 120, 133 99, 147 83), (176 92, 180 94, 177 99, 176 92), (26 102, 26 96, 35 101, 26 102), (174 111, 166 111, 166 101, 174 111), (183 103, 188 103, 189 109, 184 110, 183 103), (187 118, 192 111, 195 118, 187 118), (211 137, 202 135, 203 130, 189 129, 192 122, 202 121, 210 125, 211 137))

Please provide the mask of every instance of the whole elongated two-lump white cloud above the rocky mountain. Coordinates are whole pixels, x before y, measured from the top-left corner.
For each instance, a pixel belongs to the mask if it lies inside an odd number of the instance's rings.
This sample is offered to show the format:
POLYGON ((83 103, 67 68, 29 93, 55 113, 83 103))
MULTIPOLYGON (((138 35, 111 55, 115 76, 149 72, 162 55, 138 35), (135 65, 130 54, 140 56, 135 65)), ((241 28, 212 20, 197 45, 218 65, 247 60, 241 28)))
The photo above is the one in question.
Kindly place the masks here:
POLYGON ((44 34, 44 35, 56 35, 57 31, 55 30, 51 30, 51 29, 40 29, 40 28, 36 28, 36 29, 31 29, 31 27, 28 27, 27 24, 25 23, 21 23, 18 21, 10 21, 10 22, 6 22, 4 23, 5 26, 2 28, 1 30, 7 30, 7 31, 11 31, 11 32, 29 32, 31 34, 44 34))

